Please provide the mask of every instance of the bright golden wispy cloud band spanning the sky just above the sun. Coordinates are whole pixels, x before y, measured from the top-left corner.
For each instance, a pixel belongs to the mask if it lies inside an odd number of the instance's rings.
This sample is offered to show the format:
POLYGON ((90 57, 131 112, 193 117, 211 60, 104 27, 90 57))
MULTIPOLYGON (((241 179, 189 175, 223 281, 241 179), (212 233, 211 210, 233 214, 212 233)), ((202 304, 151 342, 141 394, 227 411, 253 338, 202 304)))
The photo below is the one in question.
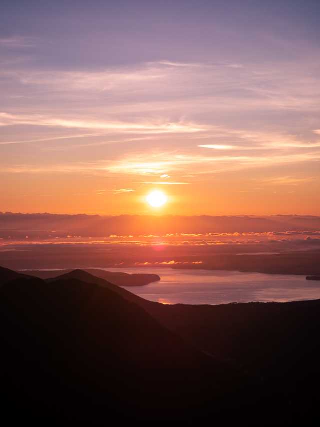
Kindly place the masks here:
MULTIPOLYGON (((96 162, 72 162, 56 165, 36 166, 17 164, 4 167, 3 171, 11 173, 91 173, 98 175, 122 174, 160 176, 168 173, 178 173, 185 176, 185 169, 196 175, 236 172, 243 169, 267 168, 274 165, 290 165, 300 162, 317 162, 320 151, 312 153, 278 154, 264 156, 239 156, 235 154, 220 156, 201 156, 192 153, 178 154, 176 152, 134 154, 119 159, 99 160, 96 162)), ((166 181, 158 181, 165 183, 166 181)))

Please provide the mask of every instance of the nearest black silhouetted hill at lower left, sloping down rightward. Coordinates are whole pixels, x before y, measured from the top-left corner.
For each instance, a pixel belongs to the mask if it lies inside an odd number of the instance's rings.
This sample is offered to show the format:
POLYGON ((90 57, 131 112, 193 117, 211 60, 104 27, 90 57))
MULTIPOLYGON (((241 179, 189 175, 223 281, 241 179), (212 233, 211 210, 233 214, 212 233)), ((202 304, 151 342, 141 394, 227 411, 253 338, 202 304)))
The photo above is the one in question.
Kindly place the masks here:
POLYGON ((12 422, 191 422, 241 410, 252 394, 231 364, 107 287, 74 278, 2 285, 0 340, 2 417, 12 422))

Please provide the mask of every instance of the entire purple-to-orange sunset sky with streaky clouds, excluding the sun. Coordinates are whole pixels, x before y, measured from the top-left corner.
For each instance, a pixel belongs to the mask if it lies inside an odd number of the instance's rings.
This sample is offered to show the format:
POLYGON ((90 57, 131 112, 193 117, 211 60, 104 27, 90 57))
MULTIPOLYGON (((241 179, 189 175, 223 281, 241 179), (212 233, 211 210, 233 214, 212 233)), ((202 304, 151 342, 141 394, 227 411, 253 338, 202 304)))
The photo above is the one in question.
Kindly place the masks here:
POLYGON ((4 0, 0 211, 319 215, 319 13, 4 0))

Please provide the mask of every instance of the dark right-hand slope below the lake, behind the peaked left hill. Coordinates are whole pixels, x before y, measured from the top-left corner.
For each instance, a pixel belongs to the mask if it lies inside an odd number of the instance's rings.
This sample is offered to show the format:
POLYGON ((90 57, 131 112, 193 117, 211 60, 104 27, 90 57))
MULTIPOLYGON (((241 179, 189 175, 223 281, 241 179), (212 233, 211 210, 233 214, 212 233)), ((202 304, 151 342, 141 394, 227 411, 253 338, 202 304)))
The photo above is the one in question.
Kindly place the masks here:
MULTIPOLYGON (((112 286, 91 275, 84 278, 84 274, 74 270, 68 277, 112 286)), ((313 390, 320 382, 320 300, 163 305, 119 287, 112 289, 194 347, 260 378, 264 390, 289 404, 295 419, 305 417, 304 412, 314 415, 319 404, 313 390)))

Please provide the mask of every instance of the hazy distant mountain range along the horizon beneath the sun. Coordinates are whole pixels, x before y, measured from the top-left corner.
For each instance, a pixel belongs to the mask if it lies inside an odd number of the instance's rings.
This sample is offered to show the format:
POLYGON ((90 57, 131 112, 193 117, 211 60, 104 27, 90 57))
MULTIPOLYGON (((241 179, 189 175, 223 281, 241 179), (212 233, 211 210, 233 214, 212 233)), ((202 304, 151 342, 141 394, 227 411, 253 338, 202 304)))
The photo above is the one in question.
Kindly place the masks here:
POLYGON ((58 215, 0 212, 0 237, 100 237, 110 234, 234 233, 320 230, 320 216, 311 215, 58 215))

